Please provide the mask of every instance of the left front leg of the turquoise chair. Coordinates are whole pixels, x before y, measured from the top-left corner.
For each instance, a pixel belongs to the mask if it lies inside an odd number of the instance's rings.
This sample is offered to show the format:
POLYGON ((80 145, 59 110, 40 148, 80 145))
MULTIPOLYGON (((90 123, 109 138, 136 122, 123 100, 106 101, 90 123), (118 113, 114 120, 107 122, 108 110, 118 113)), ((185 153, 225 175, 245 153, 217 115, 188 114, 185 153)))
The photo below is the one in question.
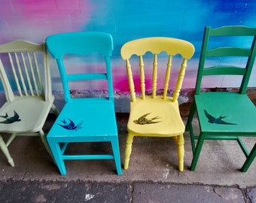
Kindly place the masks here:
POLYGON ((48 140, 48 143, 49 143, 51 152, 53 153, 53 157, 55 159, 56 165, 59 168, 60 174, 66 175, 66 167, 65 167, 65 163, 64 163, 63 159, 61 158, 62 151, 59 147, 59 143, 56 143, 54 141, 49 141, 49 140, 48 140))

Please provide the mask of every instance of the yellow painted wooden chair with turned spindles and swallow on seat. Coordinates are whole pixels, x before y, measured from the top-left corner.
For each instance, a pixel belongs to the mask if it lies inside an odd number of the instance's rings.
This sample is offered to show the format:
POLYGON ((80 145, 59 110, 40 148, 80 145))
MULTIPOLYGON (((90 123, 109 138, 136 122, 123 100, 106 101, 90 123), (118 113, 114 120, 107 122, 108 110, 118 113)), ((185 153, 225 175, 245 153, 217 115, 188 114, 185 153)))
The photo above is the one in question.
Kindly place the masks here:
MULTIPOLYGON (((126 70, 130 86, 130 118, 127 124, 128 136, 126 138, 124 169, 128 168, 130 154, 132 151, 134 136, 147 137, 173 137, 178 147, 178 169, 183 171, 184 162, 184 123, 178 108, 178 95, 181 90, 182 81, 187 67, 187 59, 194 54, 194 46, 187 41, 176 38, 141 38, 129 41, 123 44, 120 50, 122 58, 126 61, 126 70), (160 56, 159 59, 166 59, 163 67, 157 67, 157 56, 162 52, 166 56, 160 56), (146 56, 145 56, 145 53, 146 56), (143 59, 148 59, 148 53, 151 53, 151 62, 153 67, 144 65, 143 59), (182 58, 178 64, 178 80, 175 83, 175 90, 172 96, 167 95, 169 92, 169 78, 172 66, 172 56, 180 54, 182 58), (139 57, 139 83, 136 82, 136 68, 132 68, 131 58, 133 55, 139 57), (181 64, 181 65, 180 65, 181 64), (145 67, 147 66, 147 67, 145 67), (152 75, 149 79, 150 86, 146 86, 148 78, 145 77, 145 71, 152 68, 152 75), (133 71, 132 71, 133 69, 133 71), (157 71, 165 75, 163 86, 157 86, 157 71), (134 78, 133 78, 134 77, 134 78), (138 84, 138 86, 136 86, 138 84), (139 87, 140 86, 140 87, 139 87), (137 92, 138 89, 141 92, 137 92), (150 89, 150 90, 149 90, 150 89), (157 89, 163 89, 163 95, 157 92, 157 89), (146 93, 151 92, 151 95, 146 93), (138 95, 137 95, 138 93, 138 95)), ((138 64, 138 63, 137 63, 138 64)), ((176 79, 176 78, 175 78, 176 79)), ((160 82, 159 82, 160 83, 160 82)))

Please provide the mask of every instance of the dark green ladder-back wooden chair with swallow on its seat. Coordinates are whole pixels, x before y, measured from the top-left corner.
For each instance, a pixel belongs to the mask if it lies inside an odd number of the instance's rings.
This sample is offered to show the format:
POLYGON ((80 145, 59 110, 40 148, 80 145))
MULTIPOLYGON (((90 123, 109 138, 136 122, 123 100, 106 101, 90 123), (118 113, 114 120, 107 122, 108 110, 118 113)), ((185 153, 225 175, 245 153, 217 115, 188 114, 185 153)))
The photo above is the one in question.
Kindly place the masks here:
MULTIPOLYGON (((194 153, 190 170, 194 171, 206 140, 236 140, 242 148, 248 163, 242 167, 246 171, 255 156, 249 155, 240 137, 256 137, 256 108, 246 95, 251 69, 256 55, 256 28, 245 26, 223 26, 212 29, 206 27, 197 73, 194 102, 190 108, 186 130, 190 132, 194 153), (239 44, 239 38, 248 44, 239 44), (221 44, 220 41, 224 41, 221 44), (226 44, 236 42, 236 46, 226 44), (241 45, 241 46, 239 46, 241 45), (248 45, 248 47, 245 47, 248 45), (230 63, 233 62, 233 63, 230 63), (215 76, 218 77, 215 77, 215 76), (222 76, 222 77, 221 77, 222 76), (221 86, 230 87, 232 80, 241 81, 237 92, 206 92, 207 82, 216 82, 221 77, 221 86), (231 78, 230 78, 231 77, 231 78), (200 135, 194 135, 192 120, 197 111, 200 135), (197 144, 196 144, 197 141, 197 144)), ((254 142, 254 139, 251 138, 254 142)), ((228 146, 227 146, 228 147, 228 146)))

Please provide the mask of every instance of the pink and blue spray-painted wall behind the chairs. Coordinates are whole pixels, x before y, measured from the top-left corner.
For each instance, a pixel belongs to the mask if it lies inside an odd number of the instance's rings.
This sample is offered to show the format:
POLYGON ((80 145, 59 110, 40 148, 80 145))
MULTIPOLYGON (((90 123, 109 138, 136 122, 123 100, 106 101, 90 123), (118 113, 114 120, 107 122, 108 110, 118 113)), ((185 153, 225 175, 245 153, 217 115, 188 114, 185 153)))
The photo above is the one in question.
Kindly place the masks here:
MULTIPOLYGON (((122 44, 150 36, 181 38, 196 48, 183 86, 194 88, 204 26, 255 27, 255 13, 254 0, 1 0, 0 44, 17 39, 40 43, 58 32, 109 32, 114 39, 111 59, 114 90, 122 94, 128 90, 125 63, 120 58, 122 44)), ((61 90, 53 59, 50 65, 53 91, 61 90)), ((222 77, 214 80, 219 80, 220 87, 227 83, 237 86, 236 80, 225 83, 222 77)), ((212 86, 212 81, 206 81, 206 85, 212 86)), ((256 86, 255 68, 249 85, 256 86)), ((91 87, 83 87, 88 88, 91 87)))

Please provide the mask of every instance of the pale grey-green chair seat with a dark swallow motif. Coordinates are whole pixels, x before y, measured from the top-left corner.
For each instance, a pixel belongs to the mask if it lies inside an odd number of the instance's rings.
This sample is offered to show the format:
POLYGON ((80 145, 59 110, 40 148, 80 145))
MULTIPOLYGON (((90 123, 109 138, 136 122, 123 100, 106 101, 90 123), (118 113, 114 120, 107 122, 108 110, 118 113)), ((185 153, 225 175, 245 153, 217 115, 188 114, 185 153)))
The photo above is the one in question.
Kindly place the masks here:
POLYGON ((5 122, 6 114, 14 117, 14 111, 19 118, 14 123, 0 123, 2 132, 38 132, 44 126, 48 112, 53 105, 54 97, 48 102, 40 96, 18 96, 12 102, 6 102, 0 109, 0 122, 5 122))

